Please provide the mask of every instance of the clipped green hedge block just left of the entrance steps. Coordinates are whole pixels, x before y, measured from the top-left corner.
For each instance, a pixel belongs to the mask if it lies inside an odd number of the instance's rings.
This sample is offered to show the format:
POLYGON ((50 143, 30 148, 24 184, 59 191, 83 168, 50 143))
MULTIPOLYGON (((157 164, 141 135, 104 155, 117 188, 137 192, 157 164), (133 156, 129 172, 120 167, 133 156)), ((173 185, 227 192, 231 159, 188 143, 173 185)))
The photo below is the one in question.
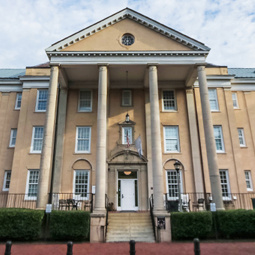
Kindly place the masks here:
POLYGON ((54 240, 84 240, 89 236, 89 212, 52 211, 50 236, 54 240))

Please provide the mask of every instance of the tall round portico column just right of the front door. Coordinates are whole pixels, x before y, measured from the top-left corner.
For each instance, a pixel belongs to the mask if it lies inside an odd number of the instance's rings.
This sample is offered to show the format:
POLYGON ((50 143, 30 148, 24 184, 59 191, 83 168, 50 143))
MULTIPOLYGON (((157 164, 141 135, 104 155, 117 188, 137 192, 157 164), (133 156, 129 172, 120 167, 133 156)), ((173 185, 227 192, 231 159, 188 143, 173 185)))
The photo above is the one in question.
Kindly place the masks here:
POLYGON ((149 67, 154 211, 164 211, 157 67, 149 67))

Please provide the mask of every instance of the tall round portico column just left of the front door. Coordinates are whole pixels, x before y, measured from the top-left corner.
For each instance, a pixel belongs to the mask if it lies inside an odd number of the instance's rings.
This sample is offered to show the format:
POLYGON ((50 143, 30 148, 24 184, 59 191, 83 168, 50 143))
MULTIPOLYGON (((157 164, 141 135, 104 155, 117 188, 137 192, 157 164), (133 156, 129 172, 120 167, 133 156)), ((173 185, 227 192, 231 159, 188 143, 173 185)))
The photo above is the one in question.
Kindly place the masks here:
POLYGON ((99 67, 96 151, 95 212, 105 211, 106 131, 107 131, 107 67, 99 67))

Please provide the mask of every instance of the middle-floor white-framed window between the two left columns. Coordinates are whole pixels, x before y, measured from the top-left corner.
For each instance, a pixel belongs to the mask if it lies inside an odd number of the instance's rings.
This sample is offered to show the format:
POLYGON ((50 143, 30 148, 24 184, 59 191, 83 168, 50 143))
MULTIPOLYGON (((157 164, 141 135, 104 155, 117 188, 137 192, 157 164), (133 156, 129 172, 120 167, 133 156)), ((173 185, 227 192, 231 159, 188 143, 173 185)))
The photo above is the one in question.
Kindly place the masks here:
POLYGON ((77 127, 76 128, 76 146, 75 152, 89 153, 90 152, 90 127, 77 127))

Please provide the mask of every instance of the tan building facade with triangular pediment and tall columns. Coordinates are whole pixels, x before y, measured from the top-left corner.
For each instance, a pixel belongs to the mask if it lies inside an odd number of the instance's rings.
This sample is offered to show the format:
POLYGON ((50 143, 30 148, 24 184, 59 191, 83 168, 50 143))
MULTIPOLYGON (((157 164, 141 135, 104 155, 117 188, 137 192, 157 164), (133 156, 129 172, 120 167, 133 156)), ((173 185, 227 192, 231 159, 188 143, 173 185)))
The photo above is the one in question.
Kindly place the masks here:
POLYGON ((93 197, 94 230, 106 201, 146 211, 153 195, 165 216, 179 188, 238 208, 255 181, 255 69, 209 51, 126 8, 47 48, 49 63, 0 70, 0 205, 93 197))

